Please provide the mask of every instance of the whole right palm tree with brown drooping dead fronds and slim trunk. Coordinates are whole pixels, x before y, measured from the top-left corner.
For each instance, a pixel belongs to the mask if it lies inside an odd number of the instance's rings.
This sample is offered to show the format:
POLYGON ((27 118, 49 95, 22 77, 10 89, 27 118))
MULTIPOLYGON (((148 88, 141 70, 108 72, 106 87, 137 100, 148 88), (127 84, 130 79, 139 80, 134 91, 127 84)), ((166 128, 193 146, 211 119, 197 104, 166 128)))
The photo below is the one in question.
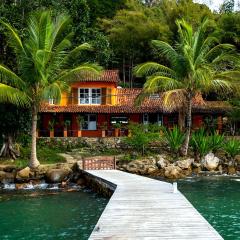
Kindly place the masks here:
POLYGON ((163 103, 169 109, 186 109, 186 138, 182 154, 187 155, 192 124, 192 99, 200 92, 226 93, 236 86, 238 71, 230 70, 237 61, 234 46, 219 44, 215 37, 206 34, 205 19, 194 32, 184 20, 176 22, 179 42, 175 46, 153 40, 153 45, 168 65, 147 62, 135 67, 136 76, 146 76, 141 101, 146 95, 163 92, 163 103))

